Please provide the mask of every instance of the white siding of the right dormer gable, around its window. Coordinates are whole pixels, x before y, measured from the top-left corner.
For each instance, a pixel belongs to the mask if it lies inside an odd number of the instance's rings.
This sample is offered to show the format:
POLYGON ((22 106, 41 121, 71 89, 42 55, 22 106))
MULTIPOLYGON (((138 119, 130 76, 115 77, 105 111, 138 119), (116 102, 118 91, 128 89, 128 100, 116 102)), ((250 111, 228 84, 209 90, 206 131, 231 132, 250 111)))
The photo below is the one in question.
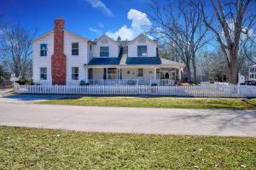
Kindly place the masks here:
POLYGON ((147 46, 147 57, 156 57, 156 44, 149 41, 147 38, 143 38, 145 42, 139 42, 141 38, 138 38, 136 41, 131 42, 128 45, 128 57, 137 57, 137 46, 146 45, 147 46))

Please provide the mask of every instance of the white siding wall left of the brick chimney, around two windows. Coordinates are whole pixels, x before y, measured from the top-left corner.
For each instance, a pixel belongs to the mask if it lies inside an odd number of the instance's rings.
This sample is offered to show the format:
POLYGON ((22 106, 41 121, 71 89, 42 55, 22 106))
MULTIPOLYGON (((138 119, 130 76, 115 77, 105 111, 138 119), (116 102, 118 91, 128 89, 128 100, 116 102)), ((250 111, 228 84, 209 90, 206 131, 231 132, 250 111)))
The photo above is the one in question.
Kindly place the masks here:
POLYGON ((33 42, 33 82, 50 85, 52 83, 51 79, 51 56, 54 54, 54 34, 42 37, 36 42, 33 42), (40 56, 40 44, 47 44, 47 56, 40 56), (40 68, 47 68, 47 80, 40 80, 40 68))

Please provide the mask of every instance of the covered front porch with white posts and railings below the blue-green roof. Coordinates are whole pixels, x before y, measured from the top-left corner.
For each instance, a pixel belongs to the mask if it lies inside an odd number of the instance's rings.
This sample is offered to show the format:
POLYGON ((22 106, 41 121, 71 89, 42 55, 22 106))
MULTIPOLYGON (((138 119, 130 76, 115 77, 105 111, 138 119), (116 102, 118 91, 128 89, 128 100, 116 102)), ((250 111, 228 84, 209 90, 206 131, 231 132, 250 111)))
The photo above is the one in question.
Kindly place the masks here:
POLYGON ((90 85, 176 85, 181 68, 170 67, 87 67, 90 85))

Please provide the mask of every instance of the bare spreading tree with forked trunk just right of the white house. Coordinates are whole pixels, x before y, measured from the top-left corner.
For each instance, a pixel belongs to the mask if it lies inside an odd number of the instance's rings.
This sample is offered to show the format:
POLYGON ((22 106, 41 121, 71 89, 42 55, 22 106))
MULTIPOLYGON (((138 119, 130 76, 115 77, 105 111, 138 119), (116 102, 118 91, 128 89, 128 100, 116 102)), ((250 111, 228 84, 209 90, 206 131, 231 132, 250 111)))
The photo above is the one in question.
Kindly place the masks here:
POLYGON ((175 51, 186 65, 188 81, 191 81, 190 67, 193 68, 193 79, 196 82, 195 57, 198 49, 202 48, 210 39, 207 39, 208 28, 203 23, 201 13, 197 10, 194 1, 162 4, 152 1, 150 19, 154 22, 151 33, 175 51))

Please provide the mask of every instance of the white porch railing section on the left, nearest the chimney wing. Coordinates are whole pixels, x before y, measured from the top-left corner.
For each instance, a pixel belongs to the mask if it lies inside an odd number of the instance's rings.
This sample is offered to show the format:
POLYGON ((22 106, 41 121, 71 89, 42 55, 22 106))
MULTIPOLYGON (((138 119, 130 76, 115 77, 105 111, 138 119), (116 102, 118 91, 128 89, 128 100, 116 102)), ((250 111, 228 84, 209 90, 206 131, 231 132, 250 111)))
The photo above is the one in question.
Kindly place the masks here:
POLYGON ((89 80, 90 85, 137 85, 137 79, 113 79, 113 80, 102 80, 92 79, 89 80))

